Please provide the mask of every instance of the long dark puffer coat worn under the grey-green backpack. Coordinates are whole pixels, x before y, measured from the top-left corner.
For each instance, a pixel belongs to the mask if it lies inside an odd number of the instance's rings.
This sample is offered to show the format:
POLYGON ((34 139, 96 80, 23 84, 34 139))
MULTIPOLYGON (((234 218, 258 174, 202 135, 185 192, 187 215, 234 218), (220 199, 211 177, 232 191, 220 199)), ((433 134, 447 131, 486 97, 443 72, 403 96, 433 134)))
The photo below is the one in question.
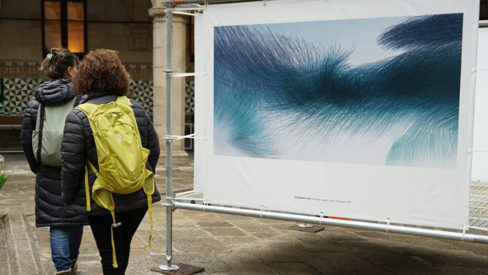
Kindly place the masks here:
POLYGON ((70 80, 40 84, 27 104, 20 140, 31 171, 36 174, 36 226, 88 225, 86 216, 68 211, 61 198, 61 167, 38 163, 32 149, 39 104, 59 104, 74 97, 70 80))

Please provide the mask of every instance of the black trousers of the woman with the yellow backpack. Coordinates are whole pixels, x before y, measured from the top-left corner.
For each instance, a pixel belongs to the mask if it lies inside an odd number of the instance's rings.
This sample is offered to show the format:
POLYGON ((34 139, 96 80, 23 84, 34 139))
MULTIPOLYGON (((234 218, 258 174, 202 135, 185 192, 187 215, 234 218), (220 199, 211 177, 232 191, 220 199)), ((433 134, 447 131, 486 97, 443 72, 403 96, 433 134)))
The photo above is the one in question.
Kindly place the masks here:
POLYGON ((117 265, 112 266, 112 236, 110 228, 112 227, 112 216, 88 216, 91 232, 97 244, 98 251, 102 260, 102 269, 104 275, 125 274, 129 262, 130 241, 139 227, 139 224, 146 214, 147 207, 135 209, 127 212, 115 214, 115 221, 121 223, 114 228, 114 243, 117 258, 117 265))

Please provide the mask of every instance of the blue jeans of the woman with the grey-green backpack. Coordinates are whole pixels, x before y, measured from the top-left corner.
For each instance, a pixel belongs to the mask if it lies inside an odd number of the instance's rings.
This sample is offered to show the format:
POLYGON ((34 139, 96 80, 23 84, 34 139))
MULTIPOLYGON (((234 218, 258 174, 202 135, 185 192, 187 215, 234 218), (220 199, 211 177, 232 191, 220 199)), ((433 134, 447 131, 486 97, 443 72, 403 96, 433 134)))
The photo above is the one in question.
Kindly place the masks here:
POLYGON ((56 272, 70 269, 71 260, 79 254, 79 245, 82 243, 83 225, 52 226, 49 229, 51 241, 51 257, 56 272))

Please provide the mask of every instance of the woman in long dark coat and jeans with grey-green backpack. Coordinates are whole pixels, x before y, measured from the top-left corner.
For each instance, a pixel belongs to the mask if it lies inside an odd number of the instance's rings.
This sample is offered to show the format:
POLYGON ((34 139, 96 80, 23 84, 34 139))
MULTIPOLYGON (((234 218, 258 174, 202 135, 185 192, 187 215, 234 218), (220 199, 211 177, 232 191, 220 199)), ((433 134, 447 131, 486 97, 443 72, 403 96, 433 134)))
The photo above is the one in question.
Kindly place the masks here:
POLYGON ((22 121, 20 139, 31 171, 36 174, 36 227, 49 227, 56 274, 75 274, 86 216, 66 209, 61 198, 61 141, 66 116, 79 104, 71 78, 78 57, 53 48, 43 61, 48 82, 36 87, 22 121))

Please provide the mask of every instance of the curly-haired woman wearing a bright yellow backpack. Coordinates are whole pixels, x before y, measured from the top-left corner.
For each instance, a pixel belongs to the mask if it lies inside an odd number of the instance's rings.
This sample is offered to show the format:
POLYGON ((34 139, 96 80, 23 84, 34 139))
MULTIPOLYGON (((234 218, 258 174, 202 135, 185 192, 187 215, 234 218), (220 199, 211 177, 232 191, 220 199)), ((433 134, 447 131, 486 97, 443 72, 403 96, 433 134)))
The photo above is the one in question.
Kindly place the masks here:
POLYGON ((87 97, 66 117, 62 197, 70 211, 87 215, 103 274, 125 274, 130 241, 148 209, 154 237, 158 135, 144 107, 127 98, 129 75, 117 52, 87 54, 73 90, 87 97))

